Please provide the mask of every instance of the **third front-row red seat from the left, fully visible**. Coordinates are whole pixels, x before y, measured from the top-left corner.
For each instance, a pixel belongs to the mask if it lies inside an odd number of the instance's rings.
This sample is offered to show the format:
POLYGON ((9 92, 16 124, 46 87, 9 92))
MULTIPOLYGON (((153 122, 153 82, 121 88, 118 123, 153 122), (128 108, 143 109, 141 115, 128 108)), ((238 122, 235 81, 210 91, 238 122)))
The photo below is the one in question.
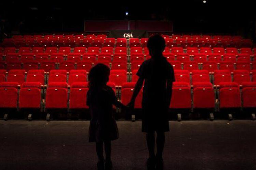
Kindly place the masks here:
POLYGON ((68 84, 49 83, 46 90, 46 109, 67 108, 68 104, 68 84))

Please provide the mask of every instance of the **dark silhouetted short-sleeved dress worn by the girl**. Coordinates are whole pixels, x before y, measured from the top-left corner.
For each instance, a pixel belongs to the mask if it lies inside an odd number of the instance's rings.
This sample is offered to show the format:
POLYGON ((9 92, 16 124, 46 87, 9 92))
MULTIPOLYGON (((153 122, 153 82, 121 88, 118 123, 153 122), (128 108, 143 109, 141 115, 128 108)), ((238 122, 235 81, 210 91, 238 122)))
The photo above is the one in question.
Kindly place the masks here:
POLYGON ((89 89, 87 105, 91 113, 89 142, 103 142, 118 139, 118 129, 113 117, 113 103, 117 100, 113 89, 89 89))

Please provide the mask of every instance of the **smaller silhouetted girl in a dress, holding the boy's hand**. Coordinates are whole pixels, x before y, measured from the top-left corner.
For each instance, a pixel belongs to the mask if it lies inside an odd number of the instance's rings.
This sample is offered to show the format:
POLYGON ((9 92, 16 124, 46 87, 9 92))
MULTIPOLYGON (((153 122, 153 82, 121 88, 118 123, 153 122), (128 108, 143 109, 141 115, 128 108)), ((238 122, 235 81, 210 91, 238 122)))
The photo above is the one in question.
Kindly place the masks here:
POLYGON ((88 75, 89 90, 87 92, 87 105, 91 113, 89 142, 96 142, 96 152, 99 158, 98 169, 104 169, 104 143, 106 170, 112 168, 111 140, 118 138, 117 124, 113 117, 113 104, 119 108, 126 108, 117 101, 113 89, 106 85, 109 81, 109 74, 110 69, 103 64, 97 64, 91 68, 88 75))

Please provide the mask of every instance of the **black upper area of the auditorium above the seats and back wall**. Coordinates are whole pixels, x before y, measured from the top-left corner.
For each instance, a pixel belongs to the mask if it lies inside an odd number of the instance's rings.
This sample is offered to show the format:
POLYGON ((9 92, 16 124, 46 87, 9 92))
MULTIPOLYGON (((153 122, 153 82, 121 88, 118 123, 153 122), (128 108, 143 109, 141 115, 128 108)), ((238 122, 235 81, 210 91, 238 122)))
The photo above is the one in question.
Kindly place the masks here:
MULTIPOLYGON (((255 2, 169 1, 3 1, 5 32, 82 32, 84 20, 170 20, 174 33, 243 35, 255 38, 255 2), (33 10, 34 8, 34 10, 33 10), (129 12, 126 16, 125 12, 129 12)), ((4 22, 4 23, 3 23, 4 22)))

